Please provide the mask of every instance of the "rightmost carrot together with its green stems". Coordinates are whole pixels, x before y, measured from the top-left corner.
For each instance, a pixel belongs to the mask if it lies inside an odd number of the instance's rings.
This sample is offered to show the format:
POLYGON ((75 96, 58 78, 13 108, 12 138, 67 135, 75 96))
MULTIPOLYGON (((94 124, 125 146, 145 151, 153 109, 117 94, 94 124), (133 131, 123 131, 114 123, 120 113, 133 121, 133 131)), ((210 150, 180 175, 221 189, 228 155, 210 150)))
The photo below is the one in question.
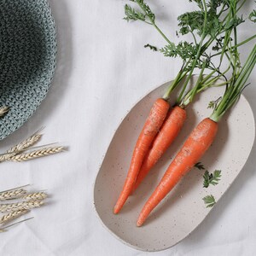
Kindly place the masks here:
MULTIPOLYGON (((239 57, 238 52, 236 56, 239 57)), ((137 219, 137 226, 141 226, 145 222, 154 207, 164 199, 180 179, 189 172, 189 170, 195 166, 195 163, 201 159, 202 155, 206 153, 218 131, 218 121, 234 106, 239 96, 241 96, 241 92, 246 88, 247 79, 253 72, 255 65, 256 45, 253 46, 243 67, 238 70, 236 66, 233 67, 232 77, 228 80, 224 95, 215 103, 211 116, 207 119, 203 119, 201 123, 195 127, 174 160, 172 160, 164 177, 162 177, 157 188, 144 205, 142 212, 140 212, 137 219)))

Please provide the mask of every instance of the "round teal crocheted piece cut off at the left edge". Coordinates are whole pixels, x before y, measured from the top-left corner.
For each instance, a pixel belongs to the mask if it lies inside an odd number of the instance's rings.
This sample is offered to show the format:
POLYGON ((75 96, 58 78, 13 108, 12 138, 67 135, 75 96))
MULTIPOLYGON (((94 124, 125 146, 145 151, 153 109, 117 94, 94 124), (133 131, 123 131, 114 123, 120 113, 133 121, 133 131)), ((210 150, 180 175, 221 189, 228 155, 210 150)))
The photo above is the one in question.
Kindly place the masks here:
POLYGON ((55 22, 47 0, 0 0, 0 140, 24 124, 55 71, 55 22))

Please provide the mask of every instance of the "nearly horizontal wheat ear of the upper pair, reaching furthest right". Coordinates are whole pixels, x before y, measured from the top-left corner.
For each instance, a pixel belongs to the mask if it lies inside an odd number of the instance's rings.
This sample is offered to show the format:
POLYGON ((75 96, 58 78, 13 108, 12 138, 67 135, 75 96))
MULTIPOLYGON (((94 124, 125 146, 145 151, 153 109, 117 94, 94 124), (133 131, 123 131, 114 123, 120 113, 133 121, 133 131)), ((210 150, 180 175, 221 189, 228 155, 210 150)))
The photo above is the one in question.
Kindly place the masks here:
POLYGON ((26 154, 17 154, 15 156, 12 156, 9 160, 15 161, 15 162, 22 162, 26 160, 32 160, 38 157, 47 156, 50 154, 57 154, 65 151, 65 147, 49 147, 49 148, 42 148, 38 150, 34 150, 31 152, 28 152, 26 154))

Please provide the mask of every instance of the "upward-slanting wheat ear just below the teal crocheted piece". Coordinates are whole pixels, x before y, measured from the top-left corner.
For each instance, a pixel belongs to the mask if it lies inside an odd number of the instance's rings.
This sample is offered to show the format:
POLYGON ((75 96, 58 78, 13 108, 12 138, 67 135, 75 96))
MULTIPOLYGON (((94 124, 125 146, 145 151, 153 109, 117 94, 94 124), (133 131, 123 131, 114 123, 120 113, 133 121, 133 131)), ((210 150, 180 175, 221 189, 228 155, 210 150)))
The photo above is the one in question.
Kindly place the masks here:
POLYGON ((32 136, 26 138, 26 140, 24 140, 23 142, 18 143, 17 145, 15 145, 12 148, 9 148, 9 150, 7 150, 5 152, 5 154, 0 155, 0 162, 9 160, 16 154, 19 154, 20 152, 22 152, 22 151, 26 150, 27 148, 32 147, 34 144, 38 143, 40 138, 43 136, 43 134, 39 134, 38 132, 40 132, 42 130, 43 130, 43 128, 39 129, 38 131, 33 133, 32 136))

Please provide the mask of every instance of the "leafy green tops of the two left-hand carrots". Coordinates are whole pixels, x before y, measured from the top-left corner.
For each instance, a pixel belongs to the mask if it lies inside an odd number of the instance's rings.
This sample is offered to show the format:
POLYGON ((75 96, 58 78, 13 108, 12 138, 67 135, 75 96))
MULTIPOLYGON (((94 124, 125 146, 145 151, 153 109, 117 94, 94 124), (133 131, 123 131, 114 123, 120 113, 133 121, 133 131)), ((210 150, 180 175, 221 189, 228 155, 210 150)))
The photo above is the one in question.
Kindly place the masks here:
MULTIPOLYGON (((174 44, 166 34, 156 24, 156 16, 152 9, 144 0, 131 0, 136 3, 138 9, 132 8, 125 4, 125 20, 140 20, 150 26, 154 26, 161 37, 165 39, 166 45, 160 49, 160 52, 166 57, 179 57, 182 60, 182 67, 177 73, 176 78, 166 90, 164 99, 168 100, 172 91, 184 79, 182 89, 177 96, 176 105, 186 108, 195 98, 195 95, 209 87, 216 86, 218 79, 224 79, 225 82, 218 85, 228 83, 225 74, 232 67, 233 61, 230 60, 230 66, 223 72, 220 71, 224 55, 227 54, 227 46, 232 40, 231 32, 236 30, 244 20, 234 15, 234 8, 230 9, 230 4, 235 0, 189 0, 197 5, 197 9, 192 12, 186 12, 177 17, 179 31, 177 34, 181 36, 191 35, 193 40, 181 41, 174 44), (225 35, 223 35, 225 33, 225 35), (221 49, 221 51, 219 51, 221 49), (217 59, 218 58, 218 59, 217 59), (214 62, 218 62, 218 66, 214 62), (195 86, 188 91, 188 84, 196 70, 201 70, 195 86), (208 75, 205 73, 208 71, 208 75)), ((236 2, 236 1, 235 1, 236 2)), ((239 7, 241 8, 241 6, 239 7)), ((236 13, 235 13, 236 14, 236 13)), ((250 18, 253 19, 253 13, 250 18)), ((253 37, 254 38, 254 37, 253 37)), ((253 38, 248 38, 252 40, 253 38)), ((236 42, 236 40, 235 40, 236 42)), ((247 42, 245 42, 247 43, 247 42)), ((241 42, 241 44, 245 44, 241 42)), ((237 44, 237 42, 236 42, 237 44)), ((236 50, 239 46, 234 45, 236 50)))

